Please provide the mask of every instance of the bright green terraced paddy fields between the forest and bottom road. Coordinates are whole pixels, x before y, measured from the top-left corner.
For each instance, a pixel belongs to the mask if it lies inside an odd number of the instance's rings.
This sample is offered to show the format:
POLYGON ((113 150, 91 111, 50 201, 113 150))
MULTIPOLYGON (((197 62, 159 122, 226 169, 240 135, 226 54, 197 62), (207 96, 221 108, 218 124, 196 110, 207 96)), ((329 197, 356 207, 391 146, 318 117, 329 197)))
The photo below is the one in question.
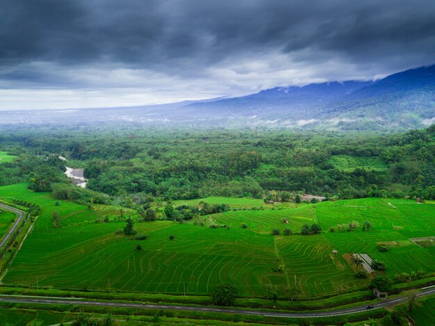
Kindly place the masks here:
MULTIPOLYGON (((357 288, 368 280, 356 279, 344 254, 367 253, 384 261, 387 274, 422 269, 435 271, 433 246, 422 247, 413 238, 434 236, 434 204, 411 200, 352 199, 297 208, 228 211, 208 219, 229 228, 211 229, 172 221, 136 223, 145 241, 115 234, 126 209, 96 205, 90 210, 71 202, 55 205, 48 193, 32 193, 25 184, 0 187, 3 199, 20 198, 42 206, 22 249, 3 279, 5 284, 62 288, 99 288, 122 291, 207 294, 220 282, 231 282, 240 295, 284 295, 296 286, 301 295, 320 295, 357 288), (52 212, 59 213, 59 225, 52 212), (108 215, 110 222, 95 222, 108 215), (288 223, 284 223, 286 218, 288 223), (372 222, 371 231, 329 232, 337 223, 372 222), (245 222, 247 228, 240 227, 245 222), (272 229, 299 232, 318 222, 322 234, 272 236, 272 229), (170 240, 170 235, 175 239, 170 240), (378 243, 391 250, 378 252, 378 243), (142 250, 137 250, 140 244, 142 250), (334 250, 338 253, 334 254, 334 250), (283 272, 272 268, 281 266, 283 272)), ((131 213, 131 212, 130 212, 131 213)))

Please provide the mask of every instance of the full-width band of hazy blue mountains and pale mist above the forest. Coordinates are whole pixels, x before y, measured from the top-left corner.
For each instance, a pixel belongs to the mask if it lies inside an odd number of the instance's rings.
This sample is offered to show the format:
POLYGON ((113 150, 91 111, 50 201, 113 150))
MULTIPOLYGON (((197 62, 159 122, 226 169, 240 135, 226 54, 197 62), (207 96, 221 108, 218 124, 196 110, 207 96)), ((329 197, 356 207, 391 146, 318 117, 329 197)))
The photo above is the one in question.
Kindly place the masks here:
POLYGON ((332 81, 244 97, 129 108, 2 111, 0 124, 405 131, 435 122, 435 65, 378 81, 332 81))

